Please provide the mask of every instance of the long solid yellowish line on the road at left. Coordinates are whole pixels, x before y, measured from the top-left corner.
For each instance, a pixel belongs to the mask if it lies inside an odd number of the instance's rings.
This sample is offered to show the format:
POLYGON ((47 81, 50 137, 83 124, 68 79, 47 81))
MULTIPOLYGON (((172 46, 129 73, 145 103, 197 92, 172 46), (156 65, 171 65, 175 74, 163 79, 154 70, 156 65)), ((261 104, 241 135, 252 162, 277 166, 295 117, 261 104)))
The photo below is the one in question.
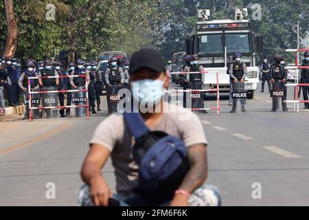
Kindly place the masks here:
POLYGON ((53 131, 49 131, 48 133, 46 133, 43 136, 35 137, 34 139, 28 140, 27 142, 23 142, 21 144, 16 144, 16 145, 10 146, 8 148, 5 148, 3 150, 0 150, 0 155, 5 155, 6 153, 10 153, 12 151, 16 151, 16 150, 18 150, 20 148, 28 146, 29 144, 33 144, 34 142, 39 142, 41 140, 44 140, 45 138, 50 137, 50 136, 54 135, 55 133, 58 133, 58 132, 62 131, 63 129, 66 129, 67 127, 71 126, 71 124, 73 124, 73 123, 72 122, 70 122, 70 123, 67 122, 67 123, 63 124, 62 126, 58 127, 57 129, 54 129, 53 131))

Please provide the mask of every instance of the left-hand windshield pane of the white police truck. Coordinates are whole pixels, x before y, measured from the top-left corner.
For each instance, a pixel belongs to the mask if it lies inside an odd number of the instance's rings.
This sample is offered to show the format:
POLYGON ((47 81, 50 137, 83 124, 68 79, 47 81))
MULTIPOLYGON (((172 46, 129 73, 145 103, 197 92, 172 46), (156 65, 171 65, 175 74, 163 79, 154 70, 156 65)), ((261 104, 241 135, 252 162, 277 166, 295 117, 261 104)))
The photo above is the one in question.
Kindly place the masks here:
POLYGON ((198 53, 222 54, 222 34, 204 34, 198 36, 198 53))

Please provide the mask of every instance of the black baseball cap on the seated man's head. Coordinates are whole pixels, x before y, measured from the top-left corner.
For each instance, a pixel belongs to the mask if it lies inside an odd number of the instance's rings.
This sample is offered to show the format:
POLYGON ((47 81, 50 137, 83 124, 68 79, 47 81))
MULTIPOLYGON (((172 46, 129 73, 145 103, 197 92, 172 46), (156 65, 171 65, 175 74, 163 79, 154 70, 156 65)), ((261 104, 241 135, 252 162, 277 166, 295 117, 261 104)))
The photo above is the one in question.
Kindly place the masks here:
POLYGON ((156 50, 142 49, 131 57, 129 74, 133 75, 141 68, 149 68, 161 73, 165 72, 165 63, 156 50))

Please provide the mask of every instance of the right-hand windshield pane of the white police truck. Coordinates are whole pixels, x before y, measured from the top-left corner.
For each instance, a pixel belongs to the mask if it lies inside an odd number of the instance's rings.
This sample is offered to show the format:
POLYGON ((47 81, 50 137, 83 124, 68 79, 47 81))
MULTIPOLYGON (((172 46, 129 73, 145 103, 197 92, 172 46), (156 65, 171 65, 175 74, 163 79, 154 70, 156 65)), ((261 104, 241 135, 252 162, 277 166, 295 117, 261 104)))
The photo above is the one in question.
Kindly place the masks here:
POLYGON ((226 45, 227 52, 234 53, 249 53, 250 52, 250 43, 249 43, 249 34, 244 33, 233 33, 226 34, 226 45))

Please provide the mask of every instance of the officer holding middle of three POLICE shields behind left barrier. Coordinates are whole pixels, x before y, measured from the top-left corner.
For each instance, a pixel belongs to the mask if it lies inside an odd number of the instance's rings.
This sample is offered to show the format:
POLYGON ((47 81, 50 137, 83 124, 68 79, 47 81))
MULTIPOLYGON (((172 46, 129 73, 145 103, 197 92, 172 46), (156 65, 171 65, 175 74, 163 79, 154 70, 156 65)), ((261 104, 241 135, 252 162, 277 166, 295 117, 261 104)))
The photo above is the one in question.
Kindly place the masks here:
MULTIPOLYGON (((42 77, 59 76, 56 69, 53 68, 52 62, 45 60, 44 69, 41 70, 42 77)), ((38 84, 42 91, 55 91, 59 89, 59 78, 40 78, 38 84)), ((42 94, 43 107, 53 107, 58 105, 58 94, 42 94)), ((58 109, 43 109, 43 117, 58 118, 58 109)))

